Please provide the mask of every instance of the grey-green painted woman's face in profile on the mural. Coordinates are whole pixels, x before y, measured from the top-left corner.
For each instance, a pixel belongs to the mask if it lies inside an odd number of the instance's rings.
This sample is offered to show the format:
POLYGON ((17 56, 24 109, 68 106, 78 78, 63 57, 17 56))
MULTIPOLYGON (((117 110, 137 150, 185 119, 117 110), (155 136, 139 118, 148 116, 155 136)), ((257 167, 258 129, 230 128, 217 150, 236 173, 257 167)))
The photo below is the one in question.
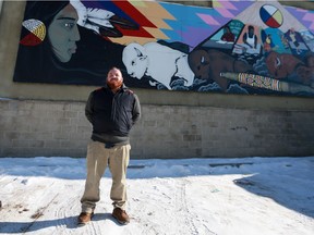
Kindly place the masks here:
POLYGON ((69 3, 53 17, 48 27, 51 49, 60 62, 69 62, 76 52, 76 41, 81 39, 77 20, 76 10, 69 3))

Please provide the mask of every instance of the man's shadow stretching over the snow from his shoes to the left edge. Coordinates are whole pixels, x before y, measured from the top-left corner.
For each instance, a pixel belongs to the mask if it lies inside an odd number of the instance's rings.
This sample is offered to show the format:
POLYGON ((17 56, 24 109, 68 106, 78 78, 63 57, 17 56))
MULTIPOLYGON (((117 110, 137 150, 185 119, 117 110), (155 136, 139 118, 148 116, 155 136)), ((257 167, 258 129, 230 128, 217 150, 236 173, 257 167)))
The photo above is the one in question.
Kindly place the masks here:
MULTIPOLYGON (((111 213, 95 213, 92 219, 93 222, 109 220, 116 223, 118 226, 122 226, 119 224, 111 213)), ((35 220, 31 222, 0 222, 0 234, 20 234, 39 231, 46 227, 67 227, 68 230, 80 228, 84 226, 77 226, 77 217, 65 217, 56 220, 35 220)), ((87 225, 86 225, 87 226, 87 225)))

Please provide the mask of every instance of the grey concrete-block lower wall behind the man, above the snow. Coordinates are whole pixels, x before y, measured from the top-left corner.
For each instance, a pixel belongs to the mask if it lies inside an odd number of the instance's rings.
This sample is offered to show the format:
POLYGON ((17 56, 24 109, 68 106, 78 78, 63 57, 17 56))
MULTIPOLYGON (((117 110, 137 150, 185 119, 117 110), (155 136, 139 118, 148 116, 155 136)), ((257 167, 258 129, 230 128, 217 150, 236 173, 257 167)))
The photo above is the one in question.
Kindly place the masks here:
MULTIPOLYGON (((85 157, 84 102, 0 100, 0 157, 85 157)), ((314 111, 142 106, 132 158, 313 156, 314 111)))

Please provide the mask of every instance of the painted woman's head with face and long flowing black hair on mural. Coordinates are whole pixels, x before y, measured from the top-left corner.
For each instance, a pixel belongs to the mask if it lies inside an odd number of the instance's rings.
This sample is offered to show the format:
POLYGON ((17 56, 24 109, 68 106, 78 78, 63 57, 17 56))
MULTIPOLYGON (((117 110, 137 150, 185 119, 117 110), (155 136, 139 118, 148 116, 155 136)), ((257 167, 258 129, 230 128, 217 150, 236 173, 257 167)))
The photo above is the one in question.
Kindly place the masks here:
POLYGON ((123 66, 125 46, 105 40, 77 20, 70 1, 27 1, 13 81, 99 85, 108 67, 123 66))

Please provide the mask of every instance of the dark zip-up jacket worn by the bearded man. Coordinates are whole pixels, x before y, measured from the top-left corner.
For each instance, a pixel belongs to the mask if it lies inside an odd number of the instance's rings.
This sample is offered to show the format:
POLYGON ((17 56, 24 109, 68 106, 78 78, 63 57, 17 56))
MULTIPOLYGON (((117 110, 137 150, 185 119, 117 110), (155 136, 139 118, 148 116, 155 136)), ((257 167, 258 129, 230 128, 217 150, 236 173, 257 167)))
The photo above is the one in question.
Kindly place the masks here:
POLYGON ((90 92, 85 115, 93 125, 93 140, 129 144, 129 133, 141 118, 140 100, 124 85, 116 94, 105 86, 90 92))

